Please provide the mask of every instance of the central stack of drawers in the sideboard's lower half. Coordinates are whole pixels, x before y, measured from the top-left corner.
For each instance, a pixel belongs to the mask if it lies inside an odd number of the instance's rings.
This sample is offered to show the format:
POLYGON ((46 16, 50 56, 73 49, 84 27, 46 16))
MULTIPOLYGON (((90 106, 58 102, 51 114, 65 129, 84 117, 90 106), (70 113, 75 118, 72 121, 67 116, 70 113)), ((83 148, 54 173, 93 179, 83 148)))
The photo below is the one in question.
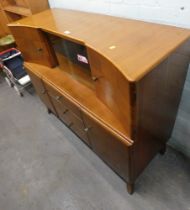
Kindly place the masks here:
POLYGON ((61 121, 90 146, 87 133, 85 132, 85 126, 81 118, 80 109, 48 82, 45 82, 45 87, 61 121))

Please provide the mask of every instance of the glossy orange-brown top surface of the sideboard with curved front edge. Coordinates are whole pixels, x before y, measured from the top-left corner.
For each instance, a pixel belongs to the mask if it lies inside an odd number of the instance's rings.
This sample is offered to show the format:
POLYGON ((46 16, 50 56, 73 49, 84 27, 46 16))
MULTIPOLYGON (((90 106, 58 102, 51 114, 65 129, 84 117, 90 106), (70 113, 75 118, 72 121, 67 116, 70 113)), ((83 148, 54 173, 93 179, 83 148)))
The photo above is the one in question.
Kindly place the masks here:
POLYGON ((29 26, 84 43, 131 82, 141 79, 190 37, 190 30, 65 9, 50 9, 9 26, 29 26))

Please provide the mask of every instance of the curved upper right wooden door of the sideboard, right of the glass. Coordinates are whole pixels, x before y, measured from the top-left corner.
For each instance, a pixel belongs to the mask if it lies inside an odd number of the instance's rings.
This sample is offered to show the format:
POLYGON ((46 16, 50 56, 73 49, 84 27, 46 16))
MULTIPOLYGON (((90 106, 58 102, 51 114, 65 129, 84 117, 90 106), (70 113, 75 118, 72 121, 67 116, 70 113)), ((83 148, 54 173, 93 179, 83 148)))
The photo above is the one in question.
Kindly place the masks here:
POLYGON ((106 58, 92 49, 88 57, 97 97, 118 117, 131 138, 130 84, 106 58))

